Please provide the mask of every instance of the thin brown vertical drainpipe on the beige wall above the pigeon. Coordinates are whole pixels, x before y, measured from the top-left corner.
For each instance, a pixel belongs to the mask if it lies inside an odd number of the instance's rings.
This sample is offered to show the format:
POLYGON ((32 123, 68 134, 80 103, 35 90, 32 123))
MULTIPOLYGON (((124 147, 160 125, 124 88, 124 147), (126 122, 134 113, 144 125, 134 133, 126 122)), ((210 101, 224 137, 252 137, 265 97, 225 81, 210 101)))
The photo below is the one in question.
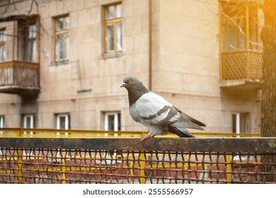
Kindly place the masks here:
POLYGON ((151 0, 149 0, 149 90, 152 89, 152 16, 151 0))

